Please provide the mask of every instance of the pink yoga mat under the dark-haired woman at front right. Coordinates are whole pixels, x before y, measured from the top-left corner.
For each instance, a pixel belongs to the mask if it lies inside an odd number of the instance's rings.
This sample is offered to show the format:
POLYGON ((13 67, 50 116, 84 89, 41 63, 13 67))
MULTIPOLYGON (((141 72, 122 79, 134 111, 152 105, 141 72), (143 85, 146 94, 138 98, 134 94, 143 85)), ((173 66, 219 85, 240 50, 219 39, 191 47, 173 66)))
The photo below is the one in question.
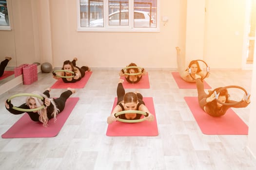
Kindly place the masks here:
POLYGON ((184 97, 203 134, 248 135, 248 126, 230 108, 221 117, 212 117, 199 106, 197 97, 184 97))

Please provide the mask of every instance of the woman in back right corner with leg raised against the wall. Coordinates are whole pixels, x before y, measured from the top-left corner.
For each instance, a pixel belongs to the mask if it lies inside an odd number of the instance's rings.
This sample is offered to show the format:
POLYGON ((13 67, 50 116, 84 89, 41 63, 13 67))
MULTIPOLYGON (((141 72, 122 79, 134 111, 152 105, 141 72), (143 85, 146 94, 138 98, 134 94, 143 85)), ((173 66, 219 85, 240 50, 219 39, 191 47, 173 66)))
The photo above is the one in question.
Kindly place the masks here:
MULTIPOLYGON (((177 65, 178 65, 178 72, 180 77, 189 83, 196 83, 196 80, 192 78, 195 77, 195 74, 200 75, 201 77, 205 76, 205 73, 202 71, 202 69, 199 66, 199 63, 197 60, 192 60, 189 63, 188 68, 184 68, 185 66, 185 61, 183 58, 181 58, 180 56, 180 49, 178 47, 176 47, 177 50, 177 65), (189 71, 189 68, 191 69, 191 72, 189 71), (191 74, 191 75, 190 75, 191 74)), ((207 77, 209 76, 209 74, 207 75, 207 77)))

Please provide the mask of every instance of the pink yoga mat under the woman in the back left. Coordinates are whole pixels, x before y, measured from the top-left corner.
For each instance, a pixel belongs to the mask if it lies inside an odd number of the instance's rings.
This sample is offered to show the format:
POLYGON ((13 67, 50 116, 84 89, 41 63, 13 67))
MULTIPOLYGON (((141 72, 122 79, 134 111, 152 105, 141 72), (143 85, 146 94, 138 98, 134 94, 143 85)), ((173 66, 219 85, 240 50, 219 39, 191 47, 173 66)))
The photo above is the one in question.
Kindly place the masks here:
POLYGON ((88 82, 89 78, 92 75, 92 71, 85 72, 85 76, 76 83, 64 83, 62 79, 59 79, 57 82, 55 82, 54 85, 51 86, 51 88, 83 88, 86 83, 88 82))

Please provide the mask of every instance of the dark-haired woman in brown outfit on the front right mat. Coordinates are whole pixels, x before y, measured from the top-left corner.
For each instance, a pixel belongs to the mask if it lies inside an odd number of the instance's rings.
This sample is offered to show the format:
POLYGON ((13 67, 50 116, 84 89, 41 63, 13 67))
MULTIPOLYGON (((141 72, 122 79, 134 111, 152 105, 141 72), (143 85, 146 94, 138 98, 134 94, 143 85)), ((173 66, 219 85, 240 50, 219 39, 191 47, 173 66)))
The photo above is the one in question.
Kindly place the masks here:
POLYGON ((196 83, 197 83, 197 94, 198 94, 198 103, 200 107, 209 115, 213 117, 220 117, 223 116, 226 111, 230 107, 240 108, 246 107, 250 103, 250 95, 246 99, 246 96, 243 97, 242 102, 234 105, 224 105, 219 102, 223 103, 236 103, 236 101, 229 100, 229 93, 227 89, 223 89, 219 91, 220 88, 218 87, 213 91, 209 90, 209 94, 206 94, 204 91, 204 84, 201 81, 201 76, 196 74, 196 83), (219 93, 217 93, 219 91, 219 93), (216 97, 217 96, 217 97, 216 97), (217 100, 219 102, 217 102, 217 100))

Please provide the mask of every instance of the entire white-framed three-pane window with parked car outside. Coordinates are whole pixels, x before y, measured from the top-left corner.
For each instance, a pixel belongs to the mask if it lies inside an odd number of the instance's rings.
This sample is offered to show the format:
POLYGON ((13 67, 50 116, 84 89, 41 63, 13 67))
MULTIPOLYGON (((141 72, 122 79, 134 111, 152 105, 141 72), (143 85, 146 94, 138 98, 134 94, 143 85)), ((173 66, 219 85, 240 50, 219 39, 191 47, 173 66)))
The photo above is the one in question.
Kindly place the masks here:
POLYGON ((78 31, 159 32, 159 0, 78 0, 78 31))

